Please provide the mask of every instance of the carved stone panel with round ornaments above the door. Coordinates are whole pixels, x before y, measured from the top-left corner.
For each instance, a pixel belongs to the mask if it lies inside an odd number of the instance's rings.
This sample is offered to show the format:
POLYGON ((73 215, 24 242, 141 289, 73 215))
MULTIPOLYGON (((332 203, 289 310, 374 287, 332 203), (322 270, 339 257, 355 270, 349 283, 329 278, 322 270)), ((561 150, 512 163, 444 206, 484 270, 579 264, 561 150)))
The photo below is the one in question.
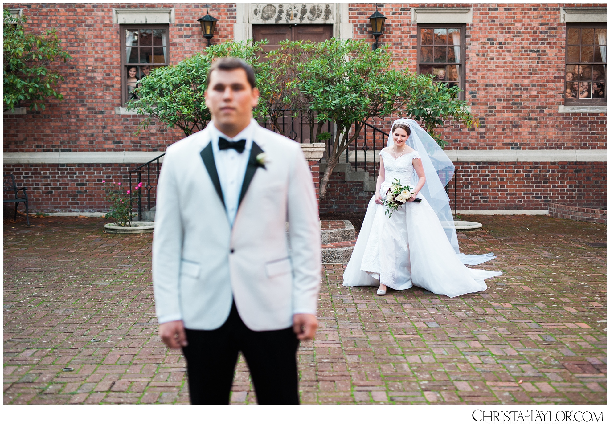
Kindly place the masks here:
POLYGON ((334 3, 260 3, 250 8, 253 24, 334 24, 334 3))

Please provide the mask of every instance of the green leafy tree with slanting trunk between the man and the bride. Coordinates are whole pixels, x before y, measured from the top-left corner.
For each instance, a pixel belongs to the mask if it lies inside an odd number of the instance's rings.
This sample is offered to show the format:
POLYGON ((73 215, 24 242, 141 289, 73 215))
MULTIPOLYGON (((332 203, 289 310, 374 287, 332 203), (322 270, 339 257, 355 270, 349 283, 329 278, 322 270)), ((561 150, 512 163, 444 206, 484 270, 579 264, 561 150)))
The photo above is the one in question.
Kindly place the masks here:
POLYGON ((329 41, 306 46, 313 52, 298 65, 299 90, 312 96, 311 109, 321 124, 331 120, 334 142, 326 146, 326 171, 320 179, 320 199, 339 157, 374 117, 401 114, 423 122, 423 127, 444 147, 435 128, 445 120, 472 126, 464 101, 456 99, 458 88, 437 85, 431 76, 410 73, 394 63, 387 46, 371 51, 365 41, 329 41))

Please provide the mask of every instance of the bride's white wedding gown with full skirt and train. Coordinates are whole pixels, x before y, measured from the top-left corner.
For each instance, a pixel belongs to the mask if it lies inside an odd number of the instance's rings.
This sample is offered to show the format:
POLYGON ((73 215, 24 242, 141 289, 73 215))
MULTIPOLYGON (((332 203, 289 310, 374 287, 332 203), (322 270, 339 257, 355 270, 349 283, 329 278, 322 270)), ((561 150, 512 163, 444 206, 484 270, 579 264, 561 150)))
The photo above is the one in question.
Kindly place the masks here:
MULTIPOLYGON (((384 150, 380 156, 386 170, 382 198, 394 179, 414 187, 412 160, 420 157, 417 151, 395 159, 384 150)), ((415 285, 448 297, 486 290, 485 279, 502 273, 468 268, 463 262, 481 264, 493 259, 493 253, 456 254, 428 201, 421 194, 417 197, 421 203, 405 203, 390 218, 386 207, 371 198, 343 286, 379 286, 381 281, 396 290, 415 285)))

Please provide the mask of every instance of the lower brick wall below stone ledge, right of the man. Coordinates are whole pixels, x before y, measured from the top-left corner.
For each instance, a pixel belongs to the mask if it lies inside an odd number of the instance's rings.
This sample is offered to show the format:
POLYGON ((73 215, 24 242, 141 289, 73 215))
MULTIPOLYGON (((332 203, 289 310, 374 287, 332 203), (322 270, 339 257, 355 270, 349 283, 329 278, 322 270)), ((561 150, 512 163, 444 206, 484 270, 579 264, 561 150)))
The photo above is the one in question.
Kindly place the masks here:
MULTIPOLYGON (((606 207, 605 162, 456 162, 458 210, 547 210, 551 203, 606 207)), ((371 164, 368 168, 371 170, 371 164)), ((333 173, 320 212, 365 212, 373 192, 333 173)), ((454 209, 454 182, 449 197, 454 209)))

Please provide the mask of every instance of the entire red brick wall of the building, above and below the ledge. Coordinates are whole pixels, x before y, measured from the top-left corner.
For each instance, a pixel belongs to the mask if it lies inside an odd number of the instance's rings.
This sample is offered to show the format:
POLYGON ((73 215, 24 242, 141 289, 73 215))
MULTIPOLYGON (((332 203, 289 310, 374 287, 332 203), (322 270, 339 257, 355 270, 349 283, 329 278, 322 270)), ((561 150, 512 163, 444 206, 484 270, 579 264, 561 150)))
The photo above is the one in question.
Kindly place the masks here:
MULTIPOLYGON (((169 37, 171 63, 206 46, 196 21, 205 15, 205 4, 5 5, 24 8, 32 29, 56 28, 73 60, 57 65, 66 78, 59 88, 63 102, 51 101, 42 112, 4 115, 4 151, 163 151, 184 137, 181 131, 162 125, 135 135, 142 119, 115 113, 121 104, 121 71, 119 25, 112 23, 112 9, 143 6, 175 9, 169 37)), ((450 142, 448 149, 606 148, 605 113, 558 113, 563 103, 565 45, 559 7, 598 4, 380 5, 388 20, 379 42, 390 45, 397 59, 407 60, 412 70, 417 64, 417 25, 411 24, 411 15, 418 6, 473 8, 473 23, 467 25, 465 85, 466 99, 480 126, 467 130, 448 125, 442 131, 450 142)), ((235 5, 210 4, 209 11, 219 20, 212 42, 231 40, 235 5)), ((367 20, 371 12, 370 4, 350 5, 354 37, 370 43, 374 41, 367 20)), ((387 130, 391 121, 374 123, 387 130)), ((605 204, 605 163, 463 165, 461 209, 547 209, 548 203, 557 200, 584 206, 605 204), (509 185, 515 185, 514 192, 507 189, 509 185)), ((23 185, 39 188, 32 189, 33 209, 99 211, 105 204, 95 176, 106 171, 119 175, 128 168, 5 165, 4 170, 18 173, 23 185)), ((312 166, 319 181, 316 170, 312 166)), ((345 182, 343 174, 335 174, 329 198, 320 203, 320 209, 363 210, 369 198, 362 184, 345 182)))

